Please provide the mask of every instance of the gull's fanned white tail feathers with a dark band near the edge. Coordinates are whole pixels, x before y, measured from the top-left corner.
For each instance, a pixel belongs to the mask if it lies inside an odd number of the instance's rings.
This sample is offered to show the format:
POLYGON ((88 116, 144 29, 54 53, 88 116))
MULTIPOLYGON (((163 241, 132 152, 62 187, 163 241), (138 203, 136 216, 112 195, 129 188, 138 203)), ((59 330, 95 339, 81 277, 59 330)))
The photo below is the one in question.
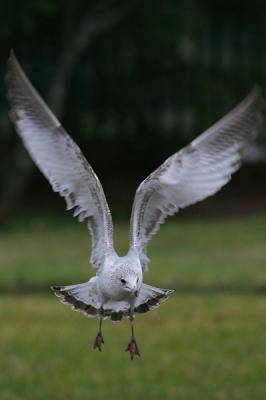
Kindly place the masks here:
MULTIPOLYGON (((70 286, 52 286, 55 295, 63 304, 68 304, 74 311, 83 312, 87 317, 102 315, 101 296, 96 285, 97 277, 89 282, 70 286)), ((145 313, 159 305, 173 293, 173 290, 159 289, 143 284, 134 305, 134 312, 145 313)), ((129 317, 130 304, 127 301, 109 300, 103 305, 104 319, 121 321, 123 316, 129 317)))

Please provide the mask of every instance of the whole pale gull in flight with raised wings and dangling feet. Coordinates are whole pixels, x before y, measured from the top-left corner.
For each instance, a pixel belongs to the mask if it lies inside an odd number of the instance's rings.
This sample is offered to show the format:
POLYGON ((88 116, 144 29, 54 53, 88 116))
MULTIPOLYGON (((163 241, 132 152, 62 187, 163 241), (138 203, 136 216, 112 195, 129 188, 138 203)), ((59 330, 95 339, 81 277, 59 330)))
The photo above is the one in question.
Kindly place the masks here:
POLYGON ((53 286, 75 311, 99 318, 94 348, 104 344, 102 321, 131 322, 126 348, 131 359, 140 351, 134 332, 136 313, 158 307, 173 292, 143 283, 148 269, 147 244, 167 216, 213 195, 237 171, 255 139, 266 110, 255 87, 225 117, 166 159, 138 187, 130 220, 129 250, 114 249, 111 213, 99 179, 80 148, 34 89, 13 51, 8 60, 10 117, 18 135, 52 189, 65 198, 67 210, 86 221, 92 238, 90 262, 97 271, 88 282, 53 286))

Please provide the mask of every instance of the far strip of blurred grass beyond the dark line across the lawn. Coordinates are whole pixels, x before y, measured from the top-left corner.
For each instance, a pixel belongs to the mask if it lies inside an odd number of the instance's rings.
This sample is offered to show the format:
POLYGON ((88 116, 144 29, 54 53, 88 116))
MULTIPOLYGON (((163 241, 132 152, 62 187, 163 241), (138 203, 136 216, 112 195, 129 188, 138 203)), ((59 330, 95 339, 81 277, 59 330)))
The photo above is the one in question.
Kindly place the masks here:
MULTIPOLYGON (((120 254, 128 225, 115 226, 120 254)), ((145 280, 165 287, 266 287, 266 216, 239 219, 169 220, 149 245, 145 280)), ((71 218, 32 218, 0 232, 0 288, 78 283, 89 268, 86 226, 71 218)))

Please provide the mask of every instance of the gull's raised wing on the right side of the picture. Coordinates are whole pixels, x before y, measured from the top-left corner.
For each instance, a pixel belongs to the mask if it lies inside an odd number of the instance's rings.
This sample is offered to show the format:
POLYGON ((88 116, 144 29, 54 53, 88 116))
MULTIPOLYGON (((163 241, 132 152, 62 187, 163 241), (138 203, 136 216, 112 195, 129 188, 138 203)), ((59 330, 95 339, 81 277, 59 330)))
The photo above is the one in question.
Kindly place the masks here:
POLYGON ((167 216, 211 196, 230 180, 255 138, 265 110, 256 87, 233 111, 140 184, 131 215, 130 246, 138 252, 144 270, 150 237, 167 216))

